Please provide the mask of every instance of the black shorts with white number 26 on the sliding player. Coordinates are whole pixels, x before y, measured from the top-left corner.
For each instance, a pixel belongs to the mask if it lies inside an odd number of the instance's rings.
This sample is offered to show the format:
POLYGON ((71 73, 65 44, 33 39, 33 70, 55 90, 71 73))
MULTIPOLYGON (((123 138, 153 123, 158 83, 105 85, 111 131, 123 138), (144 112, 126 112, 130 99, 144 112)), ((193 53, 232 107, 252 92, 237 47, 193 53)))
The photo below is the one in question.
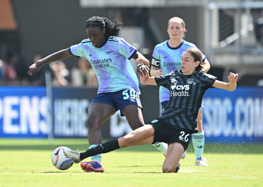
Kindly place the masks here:
POLYGON ((173 142, 179 142, 181 145, 183 145, 184 150, 188 148, 190 139, 192 137, 191 130, 180 129, 159 118, 153 120, 149 124, 154 127, 154 143, 164 142, 169 145, 173 142))

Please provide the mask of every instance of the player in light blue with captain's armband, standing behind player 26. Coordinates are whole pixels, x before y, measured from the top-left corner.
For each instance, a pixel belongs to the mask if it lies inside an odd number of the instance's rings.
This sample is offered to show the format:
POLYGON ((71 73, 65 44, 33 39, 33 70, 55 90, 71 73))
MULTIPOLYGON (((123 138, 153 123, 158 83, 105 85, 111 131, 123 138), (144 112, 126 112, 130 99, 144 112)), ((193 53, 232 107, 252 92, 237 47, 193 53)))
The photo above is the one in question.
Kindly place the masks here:
MULTIPOLYGON (((151 60, 151 76, 160 76, 169 74, 171 71, 181 69, 181 55, 184 50, 188 48, 196 48, 195 44, 183 40, 185 36, 185 23, 183 19, 179 17, 173 17, 168 21, 167 32, 170 39, 160 44, 157 44, 153 51, 153 57, 151 60)), ((204 65, 203 71, 206 73, 210 69, 210 64, 205 55, 202 54, 202 63, 204 65)), ((170 92, 164 87, 159 88, 159 101, 161 104, 162 112, 164 112, 169 100, 170 92)), ((195 149, 196 166, 208 166, 206 159, 203 158, 204 152, 204 130, 202 126, 202 113, 201 109, 198 112, 198 133, 193 134, 193 145, 195 149)), ((186 152, 184 152, 182 159, 185 158, 186 152)))

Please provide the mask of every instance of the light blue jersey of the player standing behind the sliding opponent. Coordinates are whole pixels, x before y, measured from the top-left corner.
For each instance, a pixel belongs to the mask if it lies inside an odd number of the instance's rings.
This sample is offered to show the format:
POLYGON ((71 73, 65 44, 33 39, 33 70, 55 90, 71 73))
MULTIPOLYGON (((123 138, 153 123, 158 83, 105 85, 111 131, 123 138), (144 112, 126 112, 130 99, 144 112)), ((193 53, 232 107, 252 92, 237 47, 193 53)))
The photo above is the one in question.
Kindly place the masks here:
MULTIPOLYGON (((151 65, 158 67, 162 70, 163 74, 169 74, 171 71, 181 69, 181 56, 183 52, 194 47, 198 49, 195 44, 186 42, 185 40, 178 47, 170 47, 168 40, 160 44, 157 44, 153 50, 153 58, 151 60, 151 65)), ((198 49, 199 50, 199 49, 198 49)), ((202 52, 201 52, 202 53, 202 52)), ((202 61, 205 60, 205 55, 202 53, 202 61)), ((170 92, 167 88, 160 86, 159 88, 159 100, 160 103, 168 101, 170 92)))

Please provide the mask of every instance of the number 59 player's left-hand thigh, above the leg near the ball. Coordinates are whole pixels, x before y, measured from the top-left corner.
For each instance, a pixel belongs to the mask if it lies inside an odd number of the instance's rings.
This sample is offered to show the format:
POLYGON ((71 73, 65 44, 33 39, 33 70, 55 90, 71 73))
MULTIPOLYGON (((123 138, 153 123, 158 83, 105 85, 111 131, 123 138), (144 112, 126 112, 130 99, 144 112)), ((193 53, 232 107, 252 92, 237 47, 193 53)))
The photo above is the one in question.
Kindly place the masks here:
POLYGON ((101 125, 109 119, 117 109, 110 104, 105 103, 90 103, 88 108, 88 124, 101 125))

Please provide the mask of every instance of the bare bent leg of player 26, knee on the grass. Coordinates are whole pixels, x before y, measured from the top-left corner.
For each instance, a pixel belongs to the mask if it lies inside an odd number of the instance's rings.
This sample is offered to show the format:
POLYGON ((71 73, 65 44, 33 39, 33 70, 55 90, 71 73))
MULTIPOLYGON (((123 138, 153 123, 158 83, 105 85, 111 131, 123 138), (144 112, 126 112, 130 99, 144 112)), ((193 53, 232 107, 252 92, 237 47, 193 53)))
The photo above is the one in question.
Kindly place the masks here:
POLYGON ((173 142, 168 145, 166 158, 163 163, 165 173, 175 172, 176 165, 179 163, 184 153, 184 147, 179 142, 173 142))

